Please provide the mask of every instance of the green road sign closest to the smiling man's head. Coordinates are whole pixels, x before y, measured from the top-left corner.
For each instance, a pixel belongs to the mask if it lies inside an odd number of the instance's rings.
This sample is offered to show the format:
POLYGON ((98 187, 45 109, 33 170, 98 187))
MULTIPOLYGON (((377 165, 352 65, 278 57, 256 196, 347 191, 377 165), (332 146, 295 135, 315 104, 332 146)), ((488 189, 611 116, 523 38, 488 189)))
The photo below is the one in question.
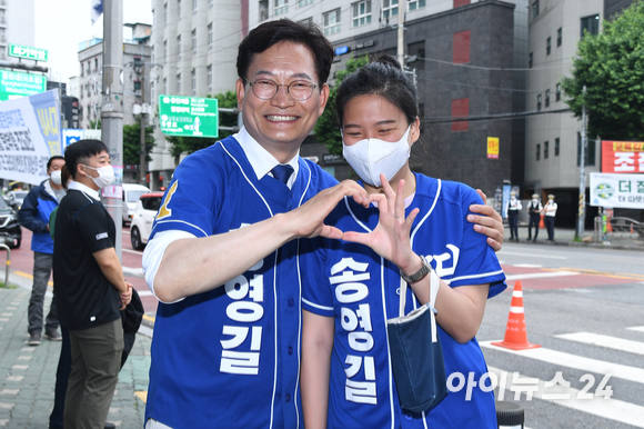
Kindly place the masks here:
POLYGON ((159 114, 167 136, 219 137, 215 98, 159 96, 159 114))

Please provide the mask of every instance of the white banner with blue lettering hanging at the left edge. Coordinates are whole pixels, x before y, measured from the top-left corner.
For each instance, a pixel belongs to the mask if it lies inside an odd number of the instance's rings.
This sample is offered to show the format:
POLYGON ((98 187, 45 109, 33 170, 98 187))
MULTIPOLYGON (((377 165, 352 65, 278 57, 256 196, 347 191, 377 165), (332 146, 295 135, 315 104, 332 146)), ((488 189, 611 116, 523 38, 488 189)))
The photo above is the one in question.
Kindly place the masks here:
POLYGON ((62 154, 58 91, 0 102, 0 178, 38 184, 62 154))

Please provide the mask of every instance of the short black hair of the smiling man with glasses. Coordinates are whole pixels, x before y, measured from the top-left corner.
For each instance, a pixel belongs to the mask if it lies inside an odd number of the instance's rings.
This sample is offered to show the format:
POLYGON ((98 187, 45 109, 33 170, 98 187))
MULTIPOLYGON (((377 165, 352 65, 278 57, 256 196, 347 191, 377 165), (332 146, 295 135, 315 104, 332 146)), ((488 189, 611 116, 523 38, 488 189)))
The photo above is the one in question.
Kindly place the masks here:
POLYGON ((333 62, 333 46, 314 23, 304 26, 285 18, 262 23, 242 40, 237 56, 238 76, 246 81, 246 73, 254 54, 262 53, 273 44, 283 41, 301 43, 309 48, 315 63, 315 73, 318 73, 319 81, 315 83, 326 83, 333 62))

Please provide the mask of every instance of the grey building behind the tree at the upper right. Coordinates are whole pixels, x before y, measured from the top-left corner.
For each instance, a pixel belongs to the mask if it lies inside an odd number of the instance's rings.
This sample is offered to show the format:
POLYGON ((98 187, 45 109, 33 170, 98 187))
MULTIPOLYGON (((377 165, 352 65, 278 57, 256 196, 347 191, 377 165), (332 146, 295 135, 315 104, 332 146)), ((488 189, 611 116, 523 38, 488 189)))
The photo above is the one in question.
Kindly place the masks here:
MULTIPOLYGON (((529 111, 567 109, 561 80, 571 76, 577 43, 585 33, 597 34, 603 22, 628 0, 531 0, 526 107, 529 111)), ((582 121, 570 111, 526 119, 524 196, 555 196, 556 226, 574 227, 578 212, 582 121)), ((588 174, 601 171, 601 144, 587 136, 584 150, 586 201, 588 174)), ((586 228, 593 228, 596 208, 586 204, 586 228)))

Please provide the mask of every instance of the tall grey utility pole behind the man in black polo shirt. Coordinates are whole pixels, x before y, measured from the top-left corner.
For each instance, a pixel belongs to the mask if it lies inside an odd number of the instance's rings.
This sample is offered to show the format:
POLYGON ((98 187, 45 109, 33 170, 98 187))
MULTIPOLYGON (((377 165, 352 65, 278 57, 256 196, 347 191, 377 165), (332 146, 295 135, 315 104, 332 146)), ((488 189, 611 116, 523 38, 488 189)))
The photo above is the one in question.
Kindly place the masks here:
POLYGON ((123 180, 123 2, 103 2, 103 88, 101 129, 102 140, 108 146, 112 167, 117 172, 117 183, 110 187, 113 192, 103 192, 103 203, 114 219, 117 242, 114 249, 121 260, 122 249, 122 180, 123 180), (120 171, 119 171, 120 170, 120 171))

